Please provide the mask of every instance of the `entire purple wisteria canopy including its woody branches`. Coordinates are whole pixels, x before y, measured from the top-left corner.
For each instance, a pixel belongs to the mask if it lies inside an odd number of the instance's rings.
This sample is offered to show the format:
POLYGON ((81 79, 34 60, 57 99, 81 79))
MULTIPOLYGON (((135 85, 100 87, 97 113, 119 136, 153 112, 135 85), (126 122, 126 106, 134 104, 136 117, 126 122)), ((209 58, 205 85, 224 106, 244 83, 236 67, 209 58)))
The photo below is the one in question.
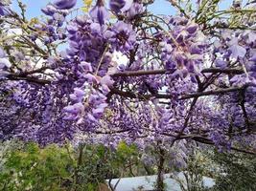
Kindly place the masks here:
POLYGON ((207 15, 204 1, 196 13, 169 2, 175 15, 153 14, 153 1, 97 0, 74 16, 77 1, 56 0, 34 22, 1 2, 0 137, 255 153, 255 5, 239 10, 241 27, 216 16, 237 6, 207 15))

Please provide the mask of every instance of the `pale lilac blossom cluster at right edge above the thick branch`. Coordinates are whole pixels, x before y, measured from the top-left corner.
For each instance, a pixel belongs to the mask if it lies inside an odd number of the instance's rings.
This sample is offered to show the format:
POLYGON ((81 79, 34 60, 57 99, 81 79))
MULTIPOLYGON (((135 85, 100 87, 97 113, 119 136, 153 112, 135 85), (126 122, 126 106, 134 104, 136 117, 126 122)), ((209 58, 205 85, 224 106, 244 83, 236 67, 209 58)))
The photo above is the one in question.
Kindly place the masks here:
POLYGON ((217 54, 215 66, 226 69, 241 69, 244 74, 236 74, 229 78, 233 86, 256 84, 256 32, 221 31, 221 38, 214 42, 214 53, 217 54), (237 66, 235 63, 239 63, 237 66))

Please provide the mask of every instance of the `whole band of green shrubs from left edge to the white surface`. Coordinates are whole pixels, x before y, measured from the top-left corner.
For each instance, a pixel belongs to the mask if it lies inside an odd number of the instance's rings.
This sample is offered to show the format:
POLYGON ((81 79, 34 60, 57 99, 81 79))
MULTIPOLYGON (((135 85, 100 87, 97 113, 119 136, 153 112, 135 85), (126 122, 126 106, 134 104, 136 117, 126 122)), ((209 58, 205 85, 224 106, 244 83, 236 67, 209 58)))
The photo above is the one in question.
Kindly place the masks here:
POLYGON ((68 144, 39 148, 36 143, 21 141, 6 142, 1 148, 5 148, 1 149, 0 189, 3 191, 93 191, 106 179, 130 176, 130 168, 138 166, 137 148, 124 142, 116 151, 104 145, 83 145, 82 150, 68 144))

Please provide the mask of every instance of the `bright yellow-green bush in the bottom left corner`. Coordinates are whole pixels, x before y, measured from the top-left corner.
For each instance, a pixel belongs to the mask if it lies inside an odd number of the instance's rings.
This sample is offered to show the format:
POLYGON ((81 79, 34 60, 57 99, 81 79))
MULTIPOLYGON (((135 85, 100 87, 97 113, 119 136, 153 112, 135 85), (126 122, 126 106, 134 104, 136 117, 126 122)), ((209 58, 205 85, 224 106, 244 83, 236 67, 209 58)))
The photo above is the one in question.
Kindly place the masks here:
POLYGON ((59 190, 72 180, 74 168, 64 148, 49 145, 40 149, 28 143, 8 155, 0 174, 1 190, 59 190))

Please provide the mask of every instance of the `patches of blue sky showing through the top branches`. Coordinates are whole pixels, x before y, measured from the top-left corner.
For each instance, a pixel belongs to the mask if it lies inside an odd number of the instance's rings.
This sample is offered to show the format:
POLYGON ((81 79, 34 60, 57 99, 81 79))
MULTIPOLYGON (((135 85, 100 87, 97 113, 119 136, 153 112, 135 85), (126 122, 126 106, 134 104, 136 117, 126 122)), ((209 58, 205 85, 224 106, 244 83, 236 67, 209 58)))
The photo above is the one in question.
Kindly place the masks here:
MULTIPOLYGON (((19 10, 17 7, 17 3, 15 0, 12 0, 12 7, 14 10, 19 10)), ((27 5, 27 17, 33 18, 39 15, 42 15, 40 11, 45 5, 47 5, 50 0, 22 0, 24 4, 27 5)), ((221 9, 226 9, 232 4, 232 0, 222 0, 221 1, 221 9)), ((77 7, 81 8, 82 0, 78 0, 77 7)), ((172 8, 169 2, 166 0, 155 0, 154 4, 150 6, 150 10, 156 14, 174 14, 175 9, 172 8)))

